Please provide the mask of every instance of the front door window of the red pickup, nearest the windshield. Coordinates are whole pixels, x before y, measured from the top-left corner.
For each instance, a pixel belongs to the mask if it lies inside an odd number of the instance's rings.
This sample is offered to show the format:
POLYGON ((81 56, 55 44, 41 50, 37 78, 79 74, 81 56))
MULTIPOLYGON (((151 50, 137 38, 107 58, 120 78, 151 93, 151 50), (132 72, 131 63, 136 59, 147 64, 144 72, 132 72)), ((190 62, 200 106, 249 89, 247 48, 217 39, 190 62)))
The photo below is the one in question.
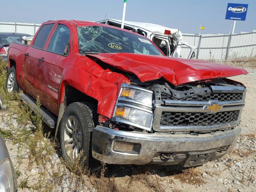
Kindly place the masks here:
POLYGON ((69 29, 66 25, 59 24, 50 40, 47 50, 64 55, 68 49, 69 29))

